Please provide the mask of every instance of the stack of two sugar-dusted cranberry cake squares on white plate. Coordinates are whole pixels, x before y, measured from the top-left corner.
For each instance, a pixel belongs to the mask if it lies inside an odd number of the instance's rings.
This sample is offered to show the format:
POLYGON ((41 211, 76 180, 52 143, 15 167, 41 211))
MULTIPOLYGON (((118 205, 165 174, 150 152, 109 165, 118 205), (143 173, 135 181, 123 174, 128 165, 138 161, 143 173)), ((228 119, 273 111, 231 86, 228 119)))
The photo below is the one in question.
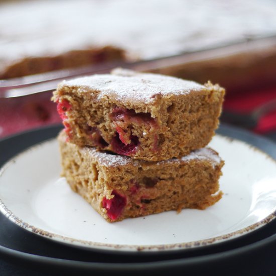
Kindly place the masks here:
POLYGON ((63 81, 62 175, 109 222, 213 205, 224 162, 205 147, 224 92, 120 68, 63 81))

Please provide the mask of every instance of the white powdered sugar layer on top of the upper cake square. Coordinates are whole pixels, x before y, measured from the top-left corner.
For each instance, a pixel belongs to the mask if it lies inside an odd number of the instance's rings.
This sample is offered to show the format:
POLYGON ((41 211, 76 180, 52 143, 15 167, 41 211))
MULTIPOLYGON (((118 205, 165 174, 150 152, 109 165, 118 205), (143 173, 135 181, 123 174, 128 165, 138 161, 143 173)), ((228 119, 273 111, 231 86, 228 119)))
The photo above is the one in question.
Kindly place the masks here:
POLYGON ((193 81, 159 74, 137 73, 131 70, 116 69, 112 74, 93 75, 64 81, 59 85, 79 87, 84 91, 97 92, 98 99, 113 95, 117 100, 151 102, 155 96, 189 94, 206 89, 193 81))

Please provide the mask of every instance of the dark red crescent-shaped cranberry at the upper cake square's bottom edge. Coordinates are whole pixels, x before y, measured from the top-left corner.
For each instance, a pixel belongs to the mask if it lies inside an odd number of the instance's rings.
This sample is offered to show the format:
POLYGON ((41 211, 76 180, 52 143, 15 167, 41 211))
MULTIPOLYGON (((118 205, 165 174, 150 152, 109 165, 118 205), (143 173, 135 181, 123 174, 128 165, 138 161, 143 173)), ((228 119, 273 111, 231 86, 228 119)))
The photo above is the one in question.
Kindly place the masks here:
POLYGON ((115 153, 120 155, 131 155, 134 154, 137 151, 137 148, 139 146, 139 140, 137 136, 131 135, 130 136, 130 143, 125 145, 121 142, 119 134, 116 133, 116 136, 114 136, 111 140, 111 146, 115 153))

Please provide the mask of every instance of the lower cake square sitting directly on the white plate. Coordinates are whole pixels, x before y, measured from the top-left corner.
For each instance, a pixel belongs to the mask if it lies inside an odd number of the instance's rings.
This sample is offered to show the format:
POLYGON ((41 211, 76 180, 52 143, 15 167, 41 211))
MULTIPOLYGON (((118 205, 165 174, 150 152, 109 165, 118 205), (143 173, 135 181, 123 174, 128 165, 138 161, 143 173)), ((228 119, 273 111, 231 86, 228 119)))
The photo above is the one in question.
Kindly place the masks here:
POLYGON ((133 160, 98 152, 58 137, 62 175, 107 221, 183 208, 205 209, 221 197, 218 179, 224 162, 203 148, 181 159, 133 160))

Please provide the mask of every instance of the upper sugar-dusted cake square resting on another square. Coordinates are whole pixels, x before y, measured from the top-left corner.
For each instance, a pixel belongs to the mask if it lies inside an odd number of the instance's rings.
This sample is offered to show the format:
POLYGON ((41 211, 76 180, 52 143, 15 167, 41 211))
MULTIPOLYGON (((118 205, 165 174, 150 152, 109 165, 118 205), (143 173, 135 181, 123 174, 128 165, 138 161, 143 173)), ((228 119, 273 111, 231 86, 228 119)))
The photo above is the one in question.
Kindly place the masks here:
POLYGON ((63 81, 53 100, 71 143, 161 161, 210 142, 223 96, 210 82, 115 69, 63 81))

